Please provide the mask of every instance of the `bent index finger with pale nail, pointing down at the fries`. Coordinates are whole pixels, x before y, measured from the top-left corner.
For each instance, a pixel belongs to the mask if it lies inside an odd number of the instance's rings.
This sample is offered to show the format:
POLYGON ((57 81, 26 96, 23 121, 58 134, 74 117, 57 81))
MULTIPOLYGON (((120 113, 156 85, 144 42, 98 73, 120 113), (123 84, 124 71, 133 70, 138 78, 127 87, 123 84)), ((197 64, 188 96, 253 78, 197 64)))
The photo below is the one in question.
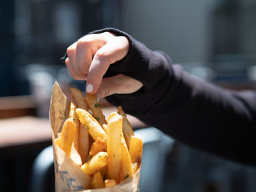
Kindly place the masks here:
POLYGON ((126 37, 115 37, 115 39, 108 41, 105 45, 97 50, 91 66, 86 82, 87 93, 97 93, 101 85, 102 78, 107 72, 110 64, 121 60, 127 55, 129 50, 129 42, 126 37))

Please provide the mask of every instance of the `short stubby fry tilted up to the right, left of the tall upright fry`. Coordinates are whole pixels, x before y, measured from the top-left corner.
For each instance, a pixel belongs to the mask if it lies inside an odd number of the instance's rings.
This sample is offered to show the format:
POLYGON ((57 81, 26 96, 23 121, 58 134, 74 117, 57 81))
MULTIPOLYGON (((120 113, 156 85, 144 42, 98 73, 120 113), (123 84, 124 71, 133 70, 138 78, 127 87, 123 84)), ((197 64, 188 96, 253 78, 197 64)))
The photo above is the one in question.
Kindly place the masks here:
POLYGON ((107 152, 99 152, 91 158, 91 161, 83 164, 81 169, 88 175, 94 174, 94 172, 102 169, 103 166, 106 166, 108 161, 108 153, 107 152))

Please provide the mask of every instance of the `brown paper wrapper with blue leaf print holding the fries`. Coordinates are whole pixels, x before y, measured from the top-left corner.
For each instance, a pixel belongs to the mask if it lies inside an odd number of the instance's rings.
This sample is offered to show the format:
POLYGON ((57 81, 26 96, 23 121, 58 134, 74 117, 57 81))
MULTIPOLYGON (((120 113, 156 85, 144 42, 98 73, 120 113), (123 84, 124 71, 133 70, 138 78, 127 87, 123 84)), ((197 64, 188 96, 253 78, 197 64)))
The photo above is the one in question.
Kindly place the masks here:
POLYGON ((55 168, 55 184, 56 191, 85 191, 85 192, 100 192, 100 191, 138 191, 140 180, 140 169, 135 175, 124 182, 112 188, 102 188, 90 190, 91 177, 85 174, 79 166, 77 166, 71 158, 69 158, 60 147, 55 143, 55 139, 61 132, 62 125, 66 120, 69 112, 70 101, 67 96, 61 91, 58 83, 53 86, 53 93, 50 99, 50 125, 52 130, 53 140, 53 155, 55 168))

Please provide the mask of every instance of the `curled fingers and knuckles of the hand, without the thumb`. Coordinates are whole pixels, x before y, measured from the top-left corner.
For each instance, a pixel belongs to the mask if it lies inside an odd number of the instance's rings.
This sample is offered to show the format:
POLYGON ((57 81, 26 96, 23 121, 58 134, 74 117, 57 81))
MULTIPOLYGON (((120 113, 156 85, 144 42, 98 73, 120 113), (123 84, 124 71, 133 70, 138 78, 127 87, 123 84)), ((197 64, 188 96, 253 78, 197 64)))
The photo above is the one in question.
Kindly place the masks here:
POLYGON ((87 93, 97 93, 110 64, 124 58, 128 51, 126 37, 116 37, 110 32, 90 34, 67 48, 65 63, 75 80, 87 78, 87 93))

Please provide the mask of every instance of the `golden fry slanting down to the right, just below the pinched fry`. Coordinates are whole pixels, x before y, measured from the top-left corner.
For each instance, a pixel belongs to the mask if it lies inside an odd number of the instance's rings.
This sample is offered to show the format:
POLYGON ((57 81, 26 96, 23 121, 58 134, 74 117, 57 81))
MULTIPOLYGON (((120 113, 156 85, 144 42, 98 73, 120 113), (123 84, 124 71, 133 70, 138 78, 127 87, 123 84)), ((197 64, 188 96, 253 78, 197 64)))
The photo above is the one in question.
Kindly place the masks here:
POLYGON ((103 130, 102 126, 99 125, 97 120, 95 120, 89 112, 79 108, 76 109, 75 112, 77 113, 80 122, 83 123, 83 126, 88 129, 89 134, 91 134, 94 141, 101 139, 102 142, 106 142, 107 134, 103 130))

